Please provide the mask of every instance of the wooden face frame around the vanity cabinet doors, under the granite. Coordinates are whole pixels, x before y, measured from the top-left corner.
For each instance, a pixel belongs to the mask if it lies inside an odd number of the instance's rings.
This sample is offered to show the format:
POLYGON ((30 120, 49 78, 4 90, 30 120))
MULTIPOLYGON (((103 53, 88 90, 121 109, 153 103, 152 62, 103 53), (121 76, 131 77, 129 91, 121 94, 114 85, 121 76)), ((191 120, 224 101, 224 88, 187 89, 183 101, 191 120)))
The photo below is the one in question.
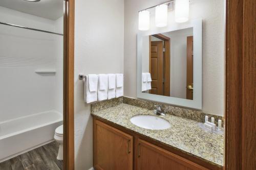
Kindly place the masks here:
MULTIPOLYGON (((212 169, 212 170, 221 170, 221 169, 223 169, 222 167, 218 167, 216 165, 212 165, 212 164, 210 164, 208 162, 205 162, 205 161, 203 161, 203 160, 201 160, 199 158, 196 158, 194 156, 191 156, 191 155, 188 155, 188 154, 186 154, 184 152, 181 152, 181 151, 179 151, 179 150, 177 150, 177 149, 175 149, 173 147, 169 147, 169 146, 167 146, 167 145, 165 145, 163 143, 157 142, 157 141, 151 139, 150 137, 143 136, 143 135, 141 135, 141 134, 139 134, 137 132, 134 132, 134 131, 126 129, 126 128, 123 128, 120 125, 116 125, 116 124, 114 124, 112 122, 109 122, 108 120, 105 120, 103 118, 96 117, 96 116, 93 115, 93 121, 95 122, 96 120, 99 120, 99 121, 101 121, 101 122, 103 122, 103 123, 105 123, 105 124, 107 124, 109 126, 112 126, 112 127, 116 128, 116 129, 124 132, 124 133, 127 133, 127 134, 129 134, 131 136, 134 136, 134 145, 133 145, 133 147, 134 147, 134 151, 133 151, 134 152, 134 169, 136 169, 136 167, 137 167, 136 158, 137 158, 138 155, 137 155, 136 151, 137 151, 138 139, 142 139, 142 140, 145 140, 147 142, 150 142, 150 143, 156 145, 157 147, 160 147, 160 148, 162 148, 162 149, 164 149, 166 151, 172 152, 172 153, 174 153, 174 154, 176 154, 178 156, 183 157, 184 159, 187 159, 189 161, 195 162, 195 163, 197 163, 197 164, 199 164, 199 165, 201 165, 203 167, 206 167, 206 168, 209 168, 209 169, 212 169)), ((94 125, 95 125, 95 123, 94 123, 94 125)))

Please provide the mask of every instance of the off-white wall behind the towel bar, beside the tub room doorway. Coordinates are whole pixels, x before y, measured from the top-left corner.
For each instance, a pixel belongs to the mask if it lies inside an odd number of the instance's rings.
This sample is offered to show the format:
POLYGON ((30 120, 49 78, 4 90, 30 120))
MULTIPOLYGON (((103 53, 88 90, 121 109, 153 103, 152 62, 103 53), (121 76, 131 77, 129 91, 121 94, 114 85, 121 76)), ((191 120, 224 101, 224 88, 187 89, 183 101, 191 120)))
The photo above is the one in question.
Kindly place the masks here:
POLYGON ((75 169, 92 167, 92 117, 78 74, 123 72, 123 0, 75 3, 75 169))

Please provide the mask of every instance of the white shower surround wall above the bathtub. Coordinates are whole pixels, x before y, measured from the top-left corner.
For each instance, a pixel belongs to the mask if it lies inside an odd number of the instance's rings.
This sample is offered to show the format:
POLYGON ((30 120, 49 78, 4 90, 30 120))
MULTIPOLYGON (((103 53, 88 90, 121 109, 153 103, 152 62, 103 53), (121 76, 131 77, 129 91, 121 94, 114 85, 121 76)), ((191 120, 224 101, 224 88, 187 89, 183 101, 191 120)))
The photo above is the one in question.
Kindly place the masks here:
MULTIPOLYGON (((55 21, 3 7, 0 18, 48 31, 56 27, 55 21)), ((62 67, 62 36, 0 25, 0 122, 53 109, 62 112, 62 67), (57 72, 34 72, 45 68, 57 72)))

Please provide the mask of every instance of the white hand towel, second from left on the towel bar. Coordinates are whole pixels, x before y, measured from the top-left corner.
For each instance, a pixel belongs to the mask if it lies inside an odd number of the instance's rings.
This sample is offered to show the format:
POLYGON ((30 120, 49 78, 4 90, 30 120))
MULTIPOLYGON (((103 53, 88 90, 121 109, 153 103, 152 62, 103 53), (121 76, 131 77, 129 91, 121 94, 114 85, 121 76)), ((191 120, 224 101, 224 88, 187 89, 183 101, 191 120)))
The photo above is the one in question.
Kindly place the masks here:
POLYGON ((108 99, 108 75, 100 74, 98 82, 99 82, 98 101, 107 100, 108 99))

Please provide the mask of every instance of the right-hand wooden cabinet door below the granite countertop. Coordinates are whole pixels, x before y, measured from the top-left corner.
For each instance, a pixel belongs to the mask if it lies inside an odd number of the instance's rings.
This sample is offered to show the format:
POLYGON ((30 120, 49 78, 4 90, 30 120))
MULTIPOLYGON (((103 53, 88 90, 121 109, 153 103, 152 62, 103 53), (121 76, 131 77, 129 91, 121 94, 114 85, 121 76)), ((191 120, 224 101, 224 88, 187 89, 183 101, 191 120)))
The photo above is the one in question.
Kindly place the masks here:
POLYGON ((137 165, 139 170, 206 169, 205 167, 141 139, 138 139, 137 152, 137 165))

